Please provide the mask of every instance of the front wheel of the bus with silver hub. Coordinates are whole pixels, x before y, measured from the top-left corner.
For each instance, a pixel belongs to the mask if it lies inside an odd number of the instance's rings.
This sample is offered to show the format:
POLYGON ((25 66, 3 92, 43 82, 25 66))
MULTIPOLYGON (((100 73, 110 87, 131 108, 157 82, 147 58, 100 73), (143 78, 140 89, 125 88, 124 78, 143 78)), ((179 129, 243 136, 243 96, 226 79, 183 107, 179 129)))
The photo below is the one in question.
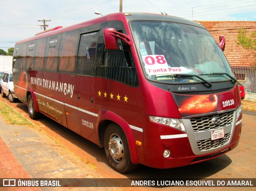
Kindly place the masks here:
POLYGON ((137 167, 130 158, 128 141, 124 131, 117 124, 110 124, 104 133, 104 151, 110 166, 124 173, 137 167))

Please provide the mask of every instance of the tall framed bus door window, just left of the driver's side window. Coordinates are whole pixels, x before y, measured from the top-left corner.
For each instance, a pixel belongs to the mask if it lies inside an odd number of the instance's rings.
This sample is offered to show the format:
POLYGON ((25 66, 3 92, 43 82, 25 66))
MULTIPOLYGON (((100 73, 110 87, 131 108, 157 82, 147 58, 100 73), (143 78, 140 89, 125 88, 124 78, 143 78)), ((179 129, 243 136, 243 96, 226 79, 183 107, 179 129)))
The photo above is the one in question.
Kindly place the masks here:
POLYGON ((98 31, 81 35, 77 60, 78 75, 94 76, 98 36, 98 31))

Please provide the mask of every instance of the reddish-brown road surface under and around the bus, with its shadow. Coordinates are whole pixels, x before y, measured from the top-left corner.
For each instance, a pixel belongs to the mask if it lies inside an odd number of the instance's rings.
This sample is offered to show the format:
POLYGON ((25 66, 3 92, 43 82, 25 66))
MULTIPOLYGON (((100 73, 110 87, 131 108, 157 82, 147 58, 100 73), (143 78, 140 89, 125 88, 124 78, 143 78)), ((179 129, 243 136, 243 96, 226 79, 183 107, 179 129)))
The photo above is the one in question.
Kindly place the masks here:
MULTIPOLYGON (((139 165, 132 172, 120 174, 112 170, 106 161, 104 150, 99 148, 92 142, 82 138, 78 134, 68 130, 62 125, 54 122, 50 118, 43 116, 39 120, 31 120, 28 117, 28 111, 25 104, 21 102, 10 103, 7 98, 0 98, 0 101, 8 103, 20 114, 35 123, 38 128, 35 131, 37 134, 43 134, 46 138, 58 140, 58 144, 65 151, 60 150, 59 154, 66 158, 69 163, 74 163, 74 160, 68 158, 67 153, 72 153, 73 156, 83 161, 84 165, 92 168, 92 173, 98 173, 105 178, 256 178, 256 112, 243 111, 242 134, 238 146, 216 159, 205 161, 202 163, 178 167, 172 169, 154 169, 139 165)), ((53 146, 58 152, 59 146, 53 146)), ((84 170, 84 165, 76 163, 79 168, 84 170)), ((61 172, 60 172, 61 173, 61 172)), ((140 188, 125 188, 125 190, 158 190, 154 187, 140 188)), ((179 190, 178 187, 172 187, 172 190, 179 190)), ((204 190, 205 188, 186 188, 182 190, 204 190)), ((222 190, 221 188, 218 188, 222 190)), ((255 190, 254 188, 239 188, 240 190, 255 190)), ((165 187, 161 190, 170 190, 165 187)), ((207 190, 216 190, 214 187, 208 187, 207 190)), ((223 188, 223 190, 234 190, 232 187, 223 188)))

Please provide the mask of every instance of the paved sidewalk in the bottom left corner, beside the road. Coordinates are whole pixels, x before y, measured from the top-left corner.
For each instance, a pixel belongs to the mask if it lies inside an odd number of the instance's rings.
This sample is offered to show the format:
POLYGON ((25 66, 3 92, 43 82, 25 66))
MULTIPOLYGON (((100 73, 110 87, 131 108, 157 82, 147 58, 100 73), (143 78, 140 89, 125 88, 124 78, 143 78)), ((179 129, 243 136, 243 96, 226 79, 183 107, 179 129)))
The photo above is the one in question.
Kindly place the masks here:
MULTIPOLYGON (((49 138, 50 139, 50 138, 49 138)), ((36 134, 26 126, 8 125, 0 116, 0 178, 104 178, 94 169, 81 169, 68 159, 58 154, 46 143, 45 138, 36 134)), ((70 183, 65 187, 0 187, 0 190, 85 190, 83 187, 73 187, 70 183)), ((94 185, 94 179, 90 182, 94 185)), ((100 186, 86 190, 112 190, 100 186)), ((118 188, 115 188, 118 189, 118 188)))

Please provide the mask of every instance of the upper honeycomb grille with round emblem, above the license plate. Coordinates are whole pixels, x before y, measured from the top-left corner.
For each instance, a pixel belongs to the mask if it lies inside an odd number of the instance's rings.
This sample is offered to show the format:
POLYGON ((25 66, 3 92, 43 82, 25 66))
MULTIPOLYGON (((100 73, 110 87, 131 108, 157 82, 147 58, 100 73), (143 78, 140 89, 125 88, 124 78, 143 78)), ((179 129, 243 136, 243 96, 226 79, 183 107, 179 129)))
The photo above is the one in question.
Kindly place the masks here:
POLYGON ((225 127, 227 125, 232 124, 233 115, 234 115, 234 110, 213 114, 213 115, 194 117, 194 118, 190 118, 190 121, 191 121, 194 132, 206 131, 206 130, 213 130, 220 127, 225 127), (220 117, 221 123, 214 124, 212 122, 212 119, 214 117, 220 117))

